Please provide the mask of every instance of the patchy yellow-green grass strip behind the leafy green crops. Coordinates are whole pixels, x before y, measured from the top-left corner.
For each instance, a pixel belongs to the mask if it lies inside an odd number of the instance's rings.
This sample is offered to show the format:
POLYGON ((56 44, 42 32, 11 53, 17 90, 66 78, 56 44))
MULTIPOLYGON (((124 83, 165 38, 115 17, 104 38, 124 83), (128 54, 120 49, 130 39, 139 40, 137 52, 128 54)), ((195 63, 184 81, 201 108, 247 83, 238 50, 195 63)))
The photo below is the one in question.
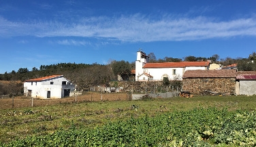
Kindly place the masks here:
POLYGON ((174 110, 216 107, 228 110, 256 110, 256 96, 198 96, 153 100, 63 103, 0 110, 0 142, 46 135, 58 129, 96 127, 110 121, 150 117, 174 110))

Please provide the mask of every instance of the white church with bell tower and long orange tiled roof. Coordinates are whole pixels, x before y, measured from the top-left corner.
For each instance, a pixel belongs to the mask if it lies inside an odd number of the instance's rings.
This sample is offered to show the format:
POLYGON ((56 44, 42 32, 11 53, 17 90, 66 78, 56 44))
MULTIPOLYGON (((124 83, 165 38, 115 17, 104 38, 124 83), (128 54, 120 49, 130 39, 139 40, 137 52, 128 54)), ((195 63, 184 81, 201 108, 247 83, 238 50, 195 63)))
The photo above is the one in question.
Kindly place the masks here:
POLYGON ((137 51, 135 61, 135 81, 163 81, 164 77, 170 80, 182 80, 186 70, 208 70, 210 62, 163 62, 147 63, 148 56, 137 51))

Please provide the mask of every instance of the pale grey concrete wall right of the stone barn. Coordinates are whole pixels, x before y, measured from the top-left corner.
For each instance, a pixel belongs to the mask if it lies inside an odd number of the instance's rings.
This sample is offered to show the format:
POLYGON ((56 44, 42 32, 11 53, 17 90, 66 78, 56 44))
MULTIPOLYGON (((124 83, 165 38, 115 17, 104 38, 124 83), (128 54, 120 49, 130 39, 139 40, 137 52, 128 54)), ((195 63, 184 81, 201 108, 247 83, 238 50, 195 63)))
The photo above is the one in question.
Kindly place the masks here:
POLYGON ((239 94, 240 95, 254 95, 256 94, 256 81, 240 81, 239 94))

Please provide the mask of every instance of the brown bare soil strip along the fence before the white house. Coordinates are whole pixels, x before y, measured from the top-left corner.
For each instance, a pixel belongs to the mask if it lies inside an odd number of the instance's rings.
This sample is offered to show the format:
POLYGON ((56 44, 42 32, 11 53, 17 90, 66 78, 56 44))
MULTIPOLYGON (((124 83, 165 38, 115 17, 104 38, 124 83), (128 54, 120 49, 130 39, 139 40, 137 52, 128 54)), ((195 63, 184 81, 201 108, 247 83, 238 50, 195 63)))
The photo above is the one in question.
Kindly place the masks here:
MULTIPOLYGON (((128 93, 84 93, 82 96, 60 98, 60 99, 39 99, 33 98, 34 106, 48 106, 54 104, 65 104, 73 102, 97 102, 129 100, 128 93)), ((0 109, 32 107, 32 98, 17 96, 14 98, 1 98, 0 109)))

